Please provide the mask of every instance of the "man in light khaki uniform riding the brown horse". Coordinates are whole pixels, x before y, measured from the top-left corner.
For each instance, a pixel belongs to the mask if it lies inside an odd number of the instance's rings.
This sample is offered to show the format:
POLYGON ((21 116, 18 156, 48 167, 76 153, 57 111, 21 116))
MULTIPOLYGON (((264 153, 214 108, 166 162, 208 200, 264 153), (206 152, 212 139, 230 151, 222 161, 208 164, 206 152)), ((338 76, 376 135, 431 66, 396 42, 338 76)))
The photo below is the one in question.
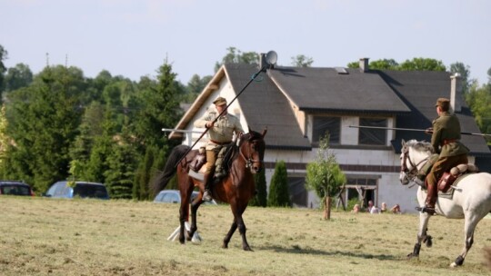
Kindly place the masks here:
POLYGON ((223 146, 232 143, 234 133, 237 136, 244 133, 240 120, 234 115, 227 113, 226 99, 224 97, 216 98, 213 104, 215 104, 215 109, 212 108, 203 117, 195 121, 195 127, 205 127, 208 129, 209 137, 205 147, 206 167, 203 178, 203 184, 205 186, 203 201, 205 202, 212 200, 210 184, 215 175, 216 156, 223 146), (218 119, 216 119, 217 117, 218 119))

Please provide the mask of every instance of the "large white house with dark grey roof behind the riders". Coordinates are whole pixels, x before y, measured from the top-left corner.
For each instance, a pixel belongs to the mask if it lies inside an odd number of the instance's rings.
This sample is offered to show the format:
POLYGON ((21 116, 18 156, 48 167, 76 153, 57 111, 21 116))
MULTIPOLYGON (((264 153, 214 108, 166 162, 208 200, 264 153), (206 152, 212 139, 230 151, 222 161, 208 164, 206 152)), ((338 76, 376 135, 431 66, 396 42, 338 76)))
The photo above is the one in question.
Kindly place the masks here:
MULTIPOLYGON (((195 129, 194 121, 217 96, 231 103, 258 70, 251 64, 222 66, 175 129, 205 131, 195 129)), ((403 212, 415 212, 416 187, 402 186, 398 179, 401 141, 431 137, 424 132, 350 126, 426 129, 436 118, 436 99, 447 97, 462 132, 479 133, 460 87, 460 78, 447 72, 370 70, 367 58, 360 59, 359 69, 275 66, 256 75, 228 112, 238 116, 245 128, 260 132, 267 127, 266 181, 269 184, 276 162, 285 161, 296 206, 319 204, 316 194, 304 187, 306 164, 315 159, 319 137, 328 132, 330 150, 347 176, 341 194, 345 202, 361 198, 378 206, 386 202, 389 208, 398 203, 403 212)), ((170 134, 186 144, 199 136, 170 134)), ((488 170, 491 153, 484 138, 464 135, 462 142, 471 151, 470 162, 488 170)))

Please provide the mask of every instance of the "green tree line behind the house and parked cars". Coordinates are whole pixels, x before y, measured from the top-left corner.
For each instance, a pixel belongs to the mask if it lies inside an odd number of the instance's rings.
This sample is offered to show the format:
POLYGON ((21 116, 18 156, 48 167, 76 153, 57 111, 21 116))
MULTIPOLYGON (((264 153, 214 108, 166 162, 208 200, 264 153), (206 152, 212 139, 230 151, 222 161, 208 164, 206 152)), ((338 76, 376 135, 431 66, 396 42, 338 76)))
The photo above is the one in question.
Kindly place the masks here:
MULTIPOLYGON (((27 64, 6 68, 7 57, 0 45, 0 178, 24 180, 37 193, 68 179, 103 182, 115 199, 153 199, 149 182, 179 143, 168 140, 162 128, 175 127, 184 113, 180 104, 192 103, 212 77, 195 74, 181 84, 167 61, 155 77, 142 76, 139 81, 108 71, 85 77, 80 68, 64 65, 46 65, 33 74, 27 64)), ((256 53, 229 47, 215 70, 221 64, 258 62, 256 53)), ((292 57, 294 66, 313 62, 303 54, 292 57)), ((411 62, 446 70, 430 59, 411 62)), ((393 60, 370 63, 374 69, 404 70, 397 66, 426 70, 393 60)), ((466 100, 481 131, 491 132, 491 84, 468 80, 464 64, 450 69, 463 76, 466 100)), ((288 192, 283 191, 287 190, 285 164, 277 166, 279 174, 269 192, 264 174, 256 176, 258 195, 253 204, 291 205, 288 192)), ((168 187, 175 187, 175 182, 168 187)))

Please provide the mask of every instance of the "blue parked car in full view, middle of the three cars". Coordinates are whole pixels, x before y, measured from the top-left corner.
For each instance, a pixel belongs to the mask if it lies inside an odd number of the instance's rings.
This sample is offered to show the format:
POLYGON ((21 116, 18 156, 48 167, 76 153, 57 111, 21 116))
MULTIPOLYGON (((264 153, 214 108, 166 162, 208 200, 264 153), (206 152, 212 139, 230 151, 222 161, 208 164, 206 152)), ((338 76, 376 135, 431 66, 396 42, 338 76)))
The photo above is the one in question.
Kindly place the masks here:
POLYGON ((96 182, 55 182, 45 193, 47 197, 53 198, 96 198, 108 200, 109 193, 103 183, 96 182))

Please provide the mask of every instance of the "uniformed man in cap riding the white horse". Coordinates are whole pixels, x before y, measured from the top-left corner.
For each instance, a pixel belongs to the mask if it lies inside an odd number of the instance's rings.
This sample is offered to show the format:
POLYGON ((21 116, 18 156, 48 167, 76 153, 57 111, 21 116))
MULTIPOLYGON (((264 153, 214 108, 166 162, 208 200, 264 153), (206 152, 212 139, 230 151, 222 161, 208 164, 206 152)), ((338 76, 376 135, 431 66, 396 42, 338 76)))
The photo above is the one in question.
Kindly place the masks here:
POLYGON ((438 117, 433 121, 433 127, 426 133, 432 133, 431 144, 435 153, 439 154, 436 163, 426 176, 426 202, 425 207, 416 208, 418 211, 435 214, 437 197, 436 184, 443 173, 458 164, 467 163, 469 149, 460 143, 460 122, 456 114, 450 113, 450 100, 439 98, 436 100, 436 113, 438 117))

